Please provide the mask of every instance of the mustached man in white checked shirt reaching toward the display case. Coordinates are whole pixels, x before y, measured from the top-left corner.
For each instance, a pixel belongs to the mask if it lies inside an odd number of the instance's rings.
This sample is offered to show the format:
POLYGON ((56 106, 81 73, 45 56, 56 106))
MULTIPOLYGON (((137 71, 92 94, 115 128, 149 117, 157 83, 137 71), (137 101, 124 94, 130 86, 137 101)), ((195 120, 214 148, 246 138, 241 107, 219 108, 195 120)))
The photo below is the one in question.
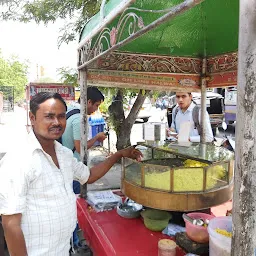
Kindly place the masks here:
POLYGON ((131 147, 89 170, 55 141, 65 130, 66 108, 57 93, 36 94, 30 101, 33 131, 0 162, 0 215, 12 256, 69 255, 76 226, 73 179, 92 183, 121 157, 141 157, 131 147))

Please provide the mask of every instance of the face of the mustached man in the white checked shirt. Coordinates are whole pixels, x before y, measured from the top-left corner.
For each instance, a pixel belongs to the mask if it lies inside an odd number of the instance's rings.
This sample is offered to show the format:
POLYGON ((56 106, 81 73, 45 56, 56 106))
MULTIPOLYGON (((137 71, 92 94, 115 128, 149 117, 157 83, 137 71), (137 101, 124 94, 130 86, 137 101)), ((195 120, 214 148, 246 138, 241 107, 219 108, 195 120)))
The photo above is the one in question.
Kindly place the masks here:
POLYGON ((29 113, 35 135, 44 140, 56 140, 66 128, 66 108, 58 99, 48 99, 39 105, 34 116, 29 113))

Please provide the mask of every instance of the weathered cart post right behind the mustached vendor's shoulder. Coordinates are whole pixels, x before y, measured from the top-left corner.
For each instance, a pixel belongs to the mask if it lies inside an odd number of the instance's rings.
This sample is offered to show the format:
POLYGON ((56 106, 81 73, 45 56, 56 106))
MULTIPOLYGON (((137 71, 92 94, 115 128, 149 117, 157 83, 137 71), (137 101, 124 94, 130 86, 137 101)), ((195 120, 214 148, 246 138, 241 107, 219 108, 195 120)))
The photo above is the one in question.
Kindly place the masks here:
MULTIPOLYGON (((80 105, 81 105, 81 161, 87 165, 88 161, 88 119, 87 119, 87 69, 79 71, 79 84, 80 84, 80 105)), ((81 197, 87 197, 87 184, 81 187, 81 197)))

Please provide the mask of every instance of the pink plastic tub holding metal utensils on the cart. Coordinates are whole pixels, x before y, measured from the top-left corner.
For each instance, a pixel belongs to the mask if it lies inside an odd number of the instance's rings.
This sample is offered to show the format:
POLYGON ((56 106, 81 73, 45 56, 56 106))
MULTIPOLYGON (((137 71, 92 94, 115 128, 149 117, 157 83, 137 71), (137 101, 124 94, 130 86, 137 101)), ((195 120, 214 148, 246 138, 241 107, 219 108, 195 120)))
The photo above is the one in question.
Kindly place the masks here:
MULTIPOLYGON (((205 220, 211 220, 214 218, 214 216, 201 213, 201 212, 191 212, 187 214, 189 217, 193 219, 203 219, 205 220)), ((187 236, 197 242, 197 243, 208 243, 209 242, 209 233, 207 230, 207 227, 204 226, 198 226, 190 223, 189 221, 185 220, 186 223, 186 233, 187 236)))

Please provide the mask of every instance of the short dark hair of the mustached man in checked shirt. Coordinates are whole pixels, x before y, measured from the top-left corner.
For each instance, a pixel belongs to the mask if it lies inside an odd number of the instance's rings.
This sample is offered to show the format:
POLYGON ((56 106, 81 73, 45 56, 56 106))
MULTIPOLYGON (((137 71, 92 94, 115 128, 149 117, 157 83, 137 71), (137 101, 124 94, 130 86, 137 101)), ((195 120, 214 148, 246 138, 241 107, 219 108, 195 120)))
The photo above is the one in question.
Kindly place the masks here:
POLYGON ((39 92, 36 95, 34 95, 32 97, 32 99, 30 100, 29 107, 30 107, 30 111, 32 112, 32 114, 36 115, 36 111, 39 109, 40 104, 42 104, 43 102, 45 102, 49 99, 60 100, 63 103, 63 105, 65 106, 66 111, 67 111, 67 104, 63 100, 63 98, 60 96, 60 94, 54 93, 54 92, 39 92))

